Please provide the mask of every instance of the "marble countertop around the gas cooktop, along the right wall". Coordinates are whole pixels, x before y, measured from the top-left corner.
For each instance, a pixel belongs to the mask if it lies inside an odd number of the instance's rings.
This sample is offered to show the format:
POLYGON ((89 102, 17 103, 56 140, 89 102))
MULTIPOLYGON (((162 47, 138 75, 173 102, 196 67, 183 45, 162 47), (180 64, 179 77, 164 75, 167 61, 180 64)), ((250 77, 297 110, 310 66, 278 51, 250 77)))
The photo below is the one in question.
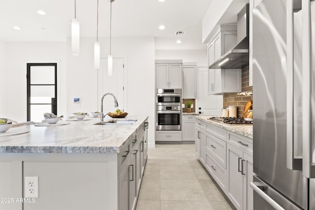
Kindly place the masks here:
POLYGON ((223 122, 208 120, 209 118, 210 116, 197 116, 196 117, 197 120, 201 120, 201 121, 216 125, 228 131, 231 131, 231 132, 234 132, 234 133, 237 133, 237 134, 240 134, 240 135, 243 135, 252 139, 252 125, 229 125, 223 122))

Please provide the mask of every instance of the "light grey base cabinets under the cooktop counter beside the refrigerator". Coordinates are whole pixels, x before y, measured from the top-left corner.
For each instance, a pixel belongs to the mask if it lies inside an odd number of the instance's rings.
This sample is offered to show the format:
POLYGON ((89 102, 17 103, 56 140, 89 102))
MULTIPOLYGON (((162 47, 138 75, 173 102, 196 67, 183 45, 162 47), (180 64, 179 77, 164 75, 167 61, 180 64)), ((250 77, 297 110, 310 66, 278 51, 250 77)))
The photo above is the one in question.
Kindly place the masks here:
POLYGON ((238 210, 253 210, 252 139, 196 120, 196 154, 238 210))

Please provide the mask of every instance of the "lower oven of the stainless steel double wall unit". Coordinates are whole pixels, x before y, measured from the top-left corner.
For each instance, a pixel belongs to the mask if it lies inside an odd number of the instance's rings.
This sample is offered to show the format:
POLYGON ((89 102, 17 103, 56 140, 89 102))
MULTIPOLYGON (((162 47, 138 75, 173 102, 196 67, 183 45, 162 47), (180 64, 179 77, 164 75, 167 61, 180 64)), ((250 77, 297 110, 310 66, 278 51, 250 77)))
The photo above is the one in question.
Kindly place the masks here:
POLYGON ((181 130, 181 106, 157 106, 157 130, 181 130))

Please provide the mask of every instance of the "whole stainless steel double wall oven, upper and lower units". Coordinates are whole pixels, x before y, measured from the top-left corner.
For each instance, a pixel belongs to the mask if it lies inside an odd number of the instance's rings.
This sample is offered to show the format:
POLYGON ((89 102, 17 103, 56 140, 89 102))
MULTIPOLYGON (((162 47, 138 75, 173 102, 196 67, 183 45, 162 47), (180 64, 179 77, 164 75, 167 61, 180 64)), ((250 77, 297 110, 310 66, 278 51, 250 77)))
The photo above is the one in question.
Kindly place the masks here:
POLYGON ((182 89, 157 89, 157 130, 182 129, 182 89))

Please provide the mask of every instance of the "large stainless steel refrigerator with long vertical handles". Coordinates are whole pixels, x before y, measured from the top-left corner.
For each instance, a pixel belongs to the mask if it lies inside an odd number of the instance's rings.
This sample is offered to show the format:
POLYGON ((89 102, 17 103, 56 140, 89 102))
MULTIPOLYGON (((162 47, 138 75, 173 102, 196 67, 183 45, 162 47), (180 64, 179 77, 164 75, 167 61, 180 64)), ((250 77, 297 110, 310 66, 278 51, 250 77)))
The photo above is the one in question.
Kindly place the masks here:
POLYGON ((315 210, 315 1, 262 0, 252 25, 254 210, 315 210))

